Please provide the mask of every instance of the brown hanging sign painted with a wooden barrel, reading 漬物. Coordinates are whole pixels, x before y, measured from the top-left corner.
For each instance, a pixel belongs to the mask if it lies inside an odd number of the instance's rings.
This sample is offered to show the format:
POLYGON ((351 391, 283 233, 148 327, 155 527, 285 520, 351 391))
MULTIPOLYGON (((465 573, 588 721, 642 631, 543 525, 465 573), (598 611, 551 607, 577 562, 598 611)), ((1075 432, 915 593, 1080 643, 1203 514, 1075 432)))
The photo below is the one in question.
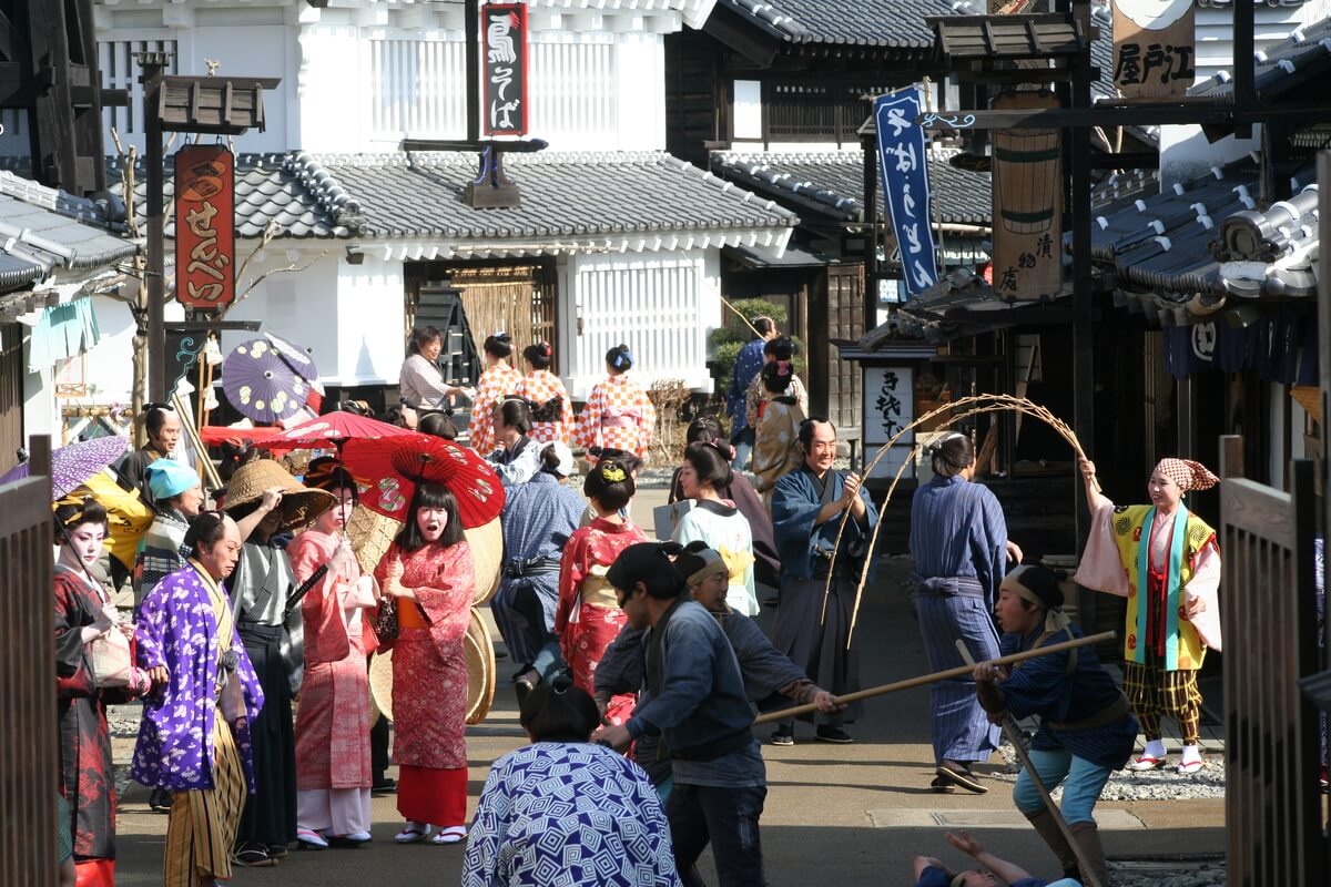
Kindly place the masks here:
MULTIPOLYGON (((1004 93, 994 110, 1057 108, 1047 92, 1004 93)), ((1009 302, 1062 290, 1062 145, 1057 129, 993 134, 993 287, 1009 302)))

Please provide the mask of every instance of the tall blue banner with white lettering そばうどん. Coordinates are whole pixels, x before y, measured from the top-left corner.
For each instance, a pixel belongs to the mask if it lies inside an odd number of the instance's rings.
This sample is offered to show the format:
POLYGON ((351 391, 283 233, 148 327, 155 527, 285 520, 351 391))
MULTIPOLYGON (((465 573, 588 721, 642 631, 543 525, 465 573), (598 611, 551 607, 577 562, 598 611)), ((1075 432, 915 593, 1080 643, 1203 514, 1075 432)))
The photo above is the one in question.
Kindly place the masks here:
POLYGON ((929 144, 924 126, 914 122, 922 110, 921 94, 920 86, 908 86, 873 100, 882 197, 892 214, 909 295, 920 295, 938 282, 929 226, 929 144))

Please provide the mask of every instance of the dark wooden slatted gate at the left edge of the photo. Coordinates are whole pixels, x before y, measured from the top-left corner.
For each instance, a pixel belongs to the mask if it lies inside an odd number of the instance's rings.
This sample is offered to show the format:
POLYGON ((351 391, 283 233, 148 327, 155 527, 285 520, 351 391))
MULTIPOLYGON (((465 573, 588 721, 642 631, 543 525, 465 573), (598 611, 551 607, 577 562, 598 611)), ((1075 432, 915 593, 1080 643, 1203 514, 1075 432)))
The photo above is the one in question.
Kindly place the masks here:
POLYGON ((0 487, 0 884, 55 887, 56 729, 51 440, 25 480, 0 487))

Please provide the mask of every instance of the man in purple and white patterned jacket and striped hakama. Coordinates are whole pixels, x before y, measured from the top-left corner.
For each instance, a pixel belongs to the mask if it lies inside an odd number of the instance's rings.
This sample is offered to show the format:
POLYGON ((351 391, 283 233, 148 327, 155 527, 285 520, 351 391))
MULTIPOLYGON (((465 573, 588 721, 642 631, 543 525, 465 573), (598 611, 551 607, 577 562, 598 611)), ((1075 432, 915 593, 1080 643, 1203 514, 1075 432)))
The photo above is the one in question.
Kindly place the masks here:
POLYGON ((254 791, 249 725, 264 692, 236 634, 221 580, 240 557, 236 521, 202 512, 185 533, 189 565, 164 578, 138 613, 144 703, 134 781, 176 793, 166 823, 166 887, 232 876, 232 844, 246 787, 254 791))

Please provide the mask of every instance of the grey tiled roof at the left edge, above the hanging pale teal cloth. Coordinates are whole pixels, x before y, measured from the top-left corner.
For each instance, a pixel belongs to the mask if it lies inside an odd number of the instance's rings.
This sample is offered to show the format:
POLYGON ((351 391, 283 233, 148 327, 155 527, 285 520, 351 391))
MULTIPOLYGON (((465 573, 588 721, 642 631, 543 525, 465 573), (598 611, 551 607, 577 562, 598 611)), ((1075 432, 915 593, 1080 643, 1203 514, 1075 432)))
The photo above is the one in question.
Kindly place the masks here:
MULTIPOLYGON (((136 251, 106 230, 104 207, 8 170, 0 172, 0 243, 12 259, 41 271, 29 283, 56 269, 88 271, 136 251)), ((16 273, 11 267, 4 277, 15 279, 16 273)))

